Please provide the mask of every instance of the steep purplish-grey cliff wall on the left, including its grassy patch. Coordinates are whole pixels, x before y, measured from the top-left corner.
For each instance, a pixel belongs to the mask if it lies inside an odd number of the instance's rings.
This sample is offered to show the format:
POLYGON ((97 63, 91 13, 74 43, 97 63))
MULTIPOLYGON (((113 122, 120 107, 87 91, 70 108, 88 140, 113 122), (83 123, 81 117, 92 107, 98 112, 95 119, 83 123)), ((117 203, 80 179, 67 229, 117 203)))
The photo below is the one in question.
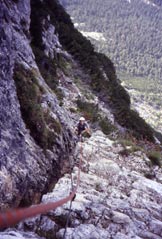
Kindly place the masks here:
MULTIPOLYGON (((0 202, 5 208, 31 203, 60 177, 72 133, 69 113, 60 108, 35 62, 30 2, 1 1, 0 9, 0 202)), ((54 34, 52 43, 55 53, 54 34)))

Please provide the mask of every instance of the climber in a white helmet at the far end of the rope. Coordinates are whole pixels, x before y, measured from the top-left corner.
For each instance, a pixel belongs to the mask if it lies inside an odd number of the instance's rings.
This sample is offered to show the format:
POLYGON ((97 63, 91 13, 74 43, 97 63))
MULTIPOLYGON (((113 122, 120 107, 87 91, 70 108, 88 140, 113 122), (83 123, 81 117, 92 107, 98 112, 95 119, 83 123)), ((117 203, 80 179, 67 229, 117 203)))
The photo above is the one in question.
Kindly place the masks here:
POLYGON ((89 126, 87 122, 85 121, 84 117, 81 117, 79 119, 79 123, 75 127, 75 133, 78 135, 78 137, 82 137, 85 135, 91 136, 89 126))

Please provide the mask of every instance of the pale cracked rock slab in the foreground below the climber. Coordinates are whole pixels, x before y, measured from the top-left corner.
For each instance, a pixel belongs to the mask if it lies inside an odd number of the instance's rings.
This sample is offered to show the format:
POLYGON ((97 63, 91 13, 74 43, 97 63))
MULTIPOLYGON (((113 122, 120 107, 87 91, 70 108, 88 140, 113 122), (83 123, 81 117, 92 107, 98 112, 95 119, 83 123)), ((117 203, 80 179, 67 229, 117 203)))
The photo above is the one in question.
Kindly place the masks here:
MULTIPOLYGON (((78 174, 81 143, 77 144, 73 184, 78 174)), ((140 151, 123 156, 122 146, 101 131, 82 143, 80 187, 70 204, 45 216, 19 225, 19 229, 38 232, 45 238, 73 239, 160 239, 162 238, 162 169, 154 167, 156 177, 146 178, 149 159, 140 151), (66 220, 69 218, 64 235, 66 220)), ((42 202, 57 201, 70 193, 71 176, 66 174, 42 202)))

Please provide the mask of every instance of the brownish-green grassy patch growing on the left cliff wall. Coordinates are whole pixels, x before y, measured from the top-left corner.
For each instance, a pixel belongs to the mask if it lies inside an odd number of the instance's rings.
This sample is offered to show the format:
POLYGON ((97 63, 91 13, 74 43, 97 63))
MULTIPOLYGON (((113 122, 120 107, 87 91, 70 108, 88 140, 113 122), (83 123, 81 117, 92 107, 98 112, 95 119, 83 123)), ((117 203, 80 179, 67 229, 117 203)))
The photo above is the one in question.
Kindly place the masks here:
POLYGON ((23 120, 38 145, 46 150, 54 145, 57 135, 61 133, 61 125, 51 117, 50 109, 42 108, 44 89, 39 86, 33 72, 16 65, 14 80, 23 120))

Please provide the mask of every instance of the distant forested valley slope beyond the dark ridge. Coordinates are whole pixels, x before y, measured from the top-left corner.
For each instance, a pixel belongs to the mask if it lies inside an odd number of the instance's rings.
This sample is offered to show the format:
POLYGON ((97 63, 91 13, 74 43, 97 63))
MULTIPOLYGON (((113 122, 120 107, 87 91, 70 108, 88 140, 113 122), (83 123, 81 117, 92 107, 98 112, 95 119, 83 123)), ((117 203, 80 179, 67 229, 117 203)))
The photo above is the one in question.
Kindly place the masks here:
POLYGON ((162 79, 159 0, 61 0, 75 26, 105 53, 118 77, 158 110, 162 79))

